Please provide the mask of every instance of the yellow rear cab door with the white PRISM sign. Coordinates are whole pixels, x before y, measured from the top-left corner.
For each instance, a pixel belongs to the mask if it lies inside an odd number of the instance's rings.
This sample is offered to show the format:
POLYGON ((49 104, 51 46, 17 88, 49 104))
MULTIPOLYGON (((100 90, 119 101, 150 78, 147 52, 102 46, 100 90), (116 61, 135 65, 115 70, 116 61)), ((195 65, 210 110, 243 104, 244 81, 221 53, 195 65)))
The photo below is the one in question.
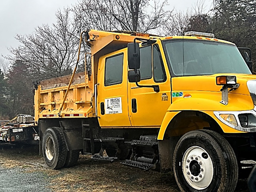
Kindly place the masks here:
POLYGON ((101 127, 130 127, 127 103, 127 54, 121 51, 99 59, 97 114, 101 127))

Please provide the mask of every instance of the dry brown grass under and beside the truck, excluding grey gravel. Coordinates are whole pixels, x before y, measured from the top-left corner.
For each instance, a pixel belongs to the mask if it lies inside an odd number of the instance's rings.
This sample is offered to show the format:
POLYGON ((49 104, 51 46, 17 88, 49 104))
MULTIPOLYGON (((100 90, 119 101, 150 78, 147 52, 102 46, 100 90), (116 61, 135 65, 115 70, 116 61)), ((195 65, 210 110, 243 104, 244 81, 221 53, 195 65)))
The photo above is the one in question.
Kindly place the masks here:
MULTIPOLYGON (((1 144, 2 145, 2 144, 1 144)), ((26 172, 43 172, 52 191, 180 191, 172 174, 143 171, 118 162, 95 162, 82 156, 73 168, 51 170, 46 167, 37 147, 11 148, 0 145, 0 165, 26 172)), ((239 192, 247 192, 246 180, 240 180, 239 192)))

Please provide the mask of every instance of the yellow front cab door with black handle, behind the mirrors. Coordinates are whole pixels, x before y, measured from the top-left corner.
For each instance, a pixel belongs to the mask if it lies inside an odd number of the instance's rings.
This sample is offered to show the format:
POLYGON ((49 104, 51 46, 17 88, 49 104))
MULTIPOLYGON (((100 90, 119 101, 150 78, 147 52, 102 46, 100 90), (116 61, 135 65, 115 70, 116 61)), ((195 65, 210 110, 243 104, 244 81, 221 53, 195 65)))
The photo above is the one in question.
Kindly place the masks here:
MULTIPOLYGON (((160 42, 160 40, 158 40, 160 42)), ((132 126, 160 127, 171 103, 170 76, 161 44, 143 46, 141 53, 141 82, 139 85, 159 85, 160 92, 153 88, 140 88, 129 82, 129 114, 132 126)))

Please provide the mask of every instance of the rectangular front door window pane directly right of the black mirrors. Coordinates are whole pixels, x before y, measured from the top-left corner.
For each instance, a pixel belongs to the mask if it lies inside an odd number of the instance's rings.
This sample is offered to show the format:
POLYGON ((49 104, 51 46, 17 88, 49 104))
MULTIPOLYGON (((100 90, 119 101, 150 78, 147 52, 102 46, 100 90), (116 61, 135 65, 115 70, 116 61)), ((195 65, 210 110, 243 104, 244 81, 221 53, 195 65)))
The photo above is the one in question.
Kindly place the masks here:
POLYGON ((151 60, 151 46, 142 47, 139 49, 141 54, 141 79, 150 79, 152 77, 152 60, 151 60))

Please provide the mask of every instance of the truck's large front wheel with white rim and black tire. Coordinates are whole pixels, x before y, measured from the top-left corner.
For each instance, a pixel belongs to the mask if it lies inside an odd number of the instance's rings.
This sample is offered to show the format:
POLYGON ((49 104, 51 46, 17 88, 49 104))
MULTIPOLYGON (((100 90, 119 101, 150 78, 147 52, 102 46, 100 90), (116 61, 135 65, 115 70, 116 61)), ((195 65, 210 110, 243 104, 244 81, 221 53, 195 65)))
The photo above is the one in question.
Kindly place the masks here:
POLYGON ((234 191, 238 165, 233 148, 220 134, 191 131, 178 141, 173 169, 181 191, 234 191))

